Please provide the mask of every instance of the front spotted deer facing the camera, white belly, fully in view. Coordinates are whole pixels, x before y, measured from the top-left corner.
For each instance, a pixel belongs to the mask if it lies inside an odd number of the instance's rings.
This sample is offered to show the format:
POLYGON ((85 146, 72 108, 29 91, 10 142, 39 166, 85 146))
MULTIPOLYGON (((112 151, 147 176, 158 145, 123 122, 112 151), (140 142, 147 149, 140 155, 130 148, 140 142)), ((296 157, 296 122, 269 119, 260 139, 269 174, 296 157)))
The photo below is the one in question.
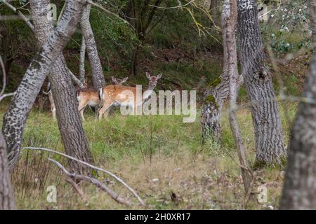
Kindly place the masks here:
POLYGON ((146 72, 146 77, 149 80, 149 84, 147 90, 145 90, 145 94, 143 95, 141 102, 136 100, 136 91, 138 90, 137 87, 107 85, 103 88, 100 88, 99 99, 101 102, 103 102, 103 106, 99 111, 99 120, 104 114, 105 118, 107 118, 107 112, 112 108, 112 106, 132 106, 133 110, 135 111, 138 106, 142 105, 154 91, 154 87, 156 87, 158 80, 162 78, 162 74, 160 73, 158 76, 150 76, 150 73, 146 72), (128 92, 133 94, 128 94, 128 92))

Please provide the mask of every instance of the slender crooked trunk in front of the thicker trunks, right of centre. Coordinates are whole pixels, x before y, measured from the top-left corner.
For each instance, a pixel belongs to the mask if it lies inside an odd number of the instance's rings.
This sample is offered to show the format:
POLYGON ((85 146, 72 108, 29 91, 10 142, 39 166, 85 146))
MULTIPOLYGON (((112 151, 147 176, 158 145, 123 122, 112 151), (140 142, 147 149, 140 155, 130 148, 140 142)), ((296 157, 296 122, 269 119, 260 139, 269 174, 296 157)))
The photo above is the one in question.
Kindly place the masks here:
POLYGON ((229 120, 232 129, 232 135, 235 139, 237 146, 237 154, 242 169, 242 180, 244 182, 244 189, 246 194, 249 192, 251 184, 251 172, 249 169, 246 147, 242 139, 242 132, 240 131, 239 124, 236 116, 236 102, 237 102, 237 89, 239 87, 239 75, 237 69, 237 46, 236 46, 236 23, 237 23, 237 3, 236 0, 225 0, 222 12, 222 31, 223 31, 223 45, 225 45, 225 59, 224 64, 225 73, 230 77, 230 112, 229 120))

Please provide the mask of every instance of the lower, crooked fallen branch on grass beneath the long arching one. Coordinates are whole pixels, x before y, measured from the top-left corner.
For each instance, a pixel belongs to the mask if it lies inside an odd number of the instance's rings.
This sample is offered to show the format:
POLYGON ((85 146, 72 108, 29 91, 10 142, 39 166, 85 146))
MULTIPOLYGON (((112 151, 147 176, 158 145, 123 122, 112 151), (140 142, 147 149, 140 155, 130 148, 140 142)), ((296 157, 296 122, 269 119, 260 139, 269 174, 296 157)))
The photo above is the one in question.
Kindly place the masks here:
MULTIPOLYGON (((97 179, 94 179, 92 177, 89 176, 84 176, 84 175, 80 175, 80 174, 70 174, 70 172, 67 171, 67 169, 65 169, 65 167, 63 167, 59 162, 57 162, 56 160, 53 160, 51 158, 48 158, 49 161, 53 162, 53 164, 55 164, 57 167, 59 167, 62 172, 64 174, 66 174, 67 176, 69 176, 72 179, 77 179, 77 180, 81 180, 81 181, 90 181, 91 183, 95 184, 96 186, 98 186, 100 189, 104 190, 108 195, 110 195, 110 197, 112 197, 113 200, 115 200, 116 202, 120 203, 120 204, 124 204, 128 207, 130 207, 132 204, 129 201, 124 200, 124 198, 122 198, 121 196, 119 196, 117 193, 115 193, 113 190, 111 190, 110 188, 107 188, 107 186, 105 186, 105 184, 101 183, 100 181, 98 181, 97 179)), ((77 186, 77 184, 75 184, 74 186, 77 186)), ((77 190, 77 188, 75 188, 77 190)))

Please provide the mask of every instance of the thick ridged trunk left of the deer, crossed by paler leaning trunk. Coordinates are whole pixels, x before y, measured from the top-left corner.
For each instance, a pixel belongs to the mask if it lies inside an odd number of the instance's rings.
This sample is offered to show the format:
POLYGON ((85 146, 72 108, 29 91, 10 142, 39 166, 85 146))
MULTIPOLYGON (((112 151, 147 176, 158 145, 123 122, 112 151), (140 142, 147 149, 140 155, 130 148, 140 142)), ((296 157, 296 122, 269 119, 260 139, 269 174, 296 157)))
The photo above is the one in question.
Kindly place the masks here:
MULTIPOLYGON (((47 20, 47 5, 49 0, 29 0, 31 14, 34 20, 34 34, 42 45, 47 41, 49 34, 53 30, 53 25, 47 20)), ((78 113, 78 103, 75 97, 74 85, 68 73, 69 69, 65 61, 65 57, 60 55, 56 59, 55 65, 52 66, 51 73, 48 78, 51 82, 53 93, 53 102, 58 118, 58 127, 62 137, 62 143, 65 147, 67 155, 83 160, 84 162, 93 163, 90 153, 88 140, 84 133, 81 120, 78 113)), ((79 174, 89 173, 91 169, 81 164, 69 160, 70 169, 79 174)))

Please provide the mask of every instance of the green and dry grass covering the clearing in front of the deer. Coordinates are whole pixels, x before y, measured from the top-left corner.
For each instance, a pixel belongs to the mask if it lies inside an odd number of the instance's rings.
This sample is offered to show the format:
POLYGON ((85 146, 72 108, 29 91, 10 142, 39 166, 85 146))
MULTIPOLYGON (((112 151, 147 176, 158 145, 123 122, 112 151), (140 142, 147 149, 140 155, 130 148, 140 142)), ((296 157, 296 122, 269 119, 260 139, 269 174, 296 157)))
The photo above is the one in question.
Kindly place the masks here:
MULTIPOLYGON (((284 136, 288 136, 289 119, 296 105, 282 105, 284 136), (287 110, 284 110, 286 108, 287 110)), ((0 116, 3 116, 4 106, 0 116)), ((146 209, 241 209, 244 201, 242 179, 227 114, 223 113, 223 144, 201 145, 199 118, 195 123, 182 123, 179 116, 121 116, 119 111, 109 120, 95 121, 86 113, 84 129, 96 164, 121 176, 145 200, 146 209)), ((249 109, 238 112, 239 123, 249 160, 254 161, 254 134, 249 109)), ((57 122, 49 113, 33 110, 29 115, 23 146, 46 147, 62 151, 57 122)), ((88 183, 80 188, 88 204, 65 182, 48 154, 22 153, 20 164, 13 172, 13 185, 19 209, 124 209, 107 194, 88 183), (57 203, 46 202, 48 186, 57 187, 57 203)), ((55 159, 66 165, 59 157, 55 159)), ((279 168, 258 171, 254 190, 265 185, 268 203, 251 201, 248 209, 277 207, 283 179, 279 168)), ((129 200, 136 201, 122 186, 100 174, 110 188, 129 200)), ((143 209, 135 205, 133 209, 143 209)))

